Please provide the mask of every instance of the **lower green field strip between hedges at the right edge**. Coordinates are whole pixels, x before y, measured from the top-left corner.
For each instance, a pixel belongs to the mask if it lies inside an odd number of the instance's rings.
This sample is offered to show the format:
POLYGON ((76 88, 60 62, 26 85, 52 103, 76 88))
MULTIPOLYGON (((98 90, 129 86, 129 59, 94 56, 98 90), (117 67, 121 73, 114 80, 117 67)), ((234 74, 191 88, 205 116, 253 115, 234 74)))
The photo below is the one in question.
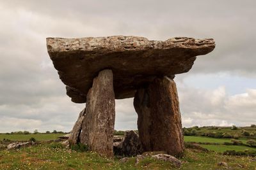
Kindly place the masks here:
POLYGON ((225 152, 226 150, 236 150, 238 151, 244 151, 244 150, 255 150, 256 148, 251 148, 248 146, 237 146, 237 145, 200 145, 203 148, 207 148, 207 150, 213 150, 215 152, 225 152))

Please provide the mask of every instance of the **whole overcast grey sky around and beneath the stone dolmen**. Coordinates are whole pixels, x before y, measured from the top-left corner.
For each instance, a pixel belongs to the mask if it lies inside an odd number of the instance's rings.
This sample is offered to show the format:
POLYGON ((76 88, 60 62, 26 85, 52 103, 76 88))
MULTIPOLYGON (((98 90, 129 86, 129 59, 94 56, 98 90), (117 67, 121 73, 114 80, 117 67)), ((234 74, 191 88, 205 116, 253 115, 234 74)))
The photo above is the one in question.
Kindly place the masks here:
MULTIPOLYGON (((70 101, 47 37, 214 38, 175 81, 184 127, 256 124, 256 1, 0 0, 0 132, 72 129, 70 101)), ((137 129, 133 99, 116 101, 115 129, 137 129)))

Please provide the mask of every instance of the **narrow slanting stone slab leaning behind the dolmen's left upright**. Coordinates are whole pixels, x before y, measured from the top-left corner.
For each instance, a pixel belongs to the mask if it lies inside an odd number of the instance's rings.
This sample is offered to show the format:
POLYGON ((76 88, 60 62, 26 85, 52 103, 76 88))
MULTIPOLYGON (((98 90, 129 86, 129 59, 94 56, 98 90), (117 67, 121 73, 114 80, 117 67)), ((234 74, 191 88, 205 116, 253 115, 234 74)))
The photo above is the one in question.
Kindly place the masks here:
POLYGON ((77 144, 79 143, 79 136, 82 131, 82 124, 84 121, 86 109, 84 108, 77 118, 76 124, 74 125, 72 132, 70 133, 70 136, 68 137, 68 141, 70 144, 77 144))

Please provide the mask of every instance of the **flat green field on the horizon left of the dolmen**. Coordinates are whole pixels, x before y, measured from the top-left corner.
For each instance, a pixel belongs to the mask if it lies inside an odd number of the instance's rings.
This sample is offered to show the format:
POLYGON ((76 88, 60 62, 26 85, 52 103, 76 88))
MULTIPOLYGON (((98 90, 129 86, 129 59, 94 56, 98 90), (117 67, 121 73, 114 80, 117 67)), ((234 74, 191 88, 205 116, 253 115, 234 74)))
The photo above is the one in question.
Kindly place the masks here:
POLYGON ((47 141, 56 139, 64 134, 0 134, 0 140, 9 139, 11 141, 28 141, 30 138, 35 138, 36 141, 47 141))

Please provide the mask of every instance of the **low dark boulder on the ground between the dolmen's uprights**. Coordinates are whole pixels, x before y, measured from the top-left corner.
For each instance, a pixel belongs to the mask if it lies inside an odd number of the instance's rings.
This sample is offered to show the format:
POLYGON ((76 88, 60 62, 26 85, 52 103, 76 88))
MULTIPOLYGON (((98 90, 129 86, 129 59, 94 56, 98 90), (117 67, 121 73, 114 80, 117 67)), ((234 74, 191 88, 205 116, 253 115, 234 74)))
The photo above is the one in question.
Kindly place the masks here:
POLYGON ((136 156, 142 153, 139 136, 134 131, 126 131, 123 140, 114 143, 113 148, 116 155, 136 156))

